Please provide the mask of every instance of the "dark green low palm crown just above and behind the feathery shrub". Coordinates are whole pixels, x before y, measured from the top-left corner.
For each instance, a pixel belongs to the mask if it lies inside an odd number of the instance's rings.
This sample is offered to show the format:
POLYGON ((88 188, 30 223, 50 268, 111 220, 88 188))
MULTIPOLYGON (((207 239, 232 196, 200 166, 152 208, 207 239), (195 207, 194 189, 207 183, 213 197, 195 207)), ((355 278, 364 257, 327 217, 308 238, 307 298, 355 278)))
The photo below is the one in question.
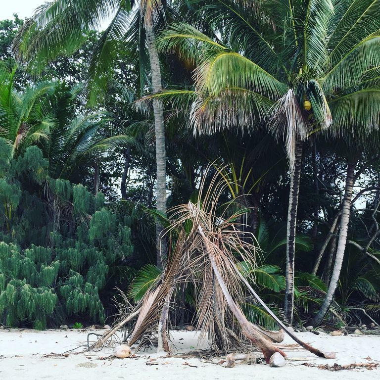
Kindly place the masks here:
POLYGON ((39 147, 49 162, 51 178, 81 183, 89 168, 94 168, 96 193, 96 176, 99 174, 96 164, 103 152, 118 146, 135 145, 136 141, 127 134, 106 136, 105 127, 112 120, 106 113, 75 113, 80 93, 81 86, 68 90, 60 84, 55 85, 46 106, 55 124, 39 147))

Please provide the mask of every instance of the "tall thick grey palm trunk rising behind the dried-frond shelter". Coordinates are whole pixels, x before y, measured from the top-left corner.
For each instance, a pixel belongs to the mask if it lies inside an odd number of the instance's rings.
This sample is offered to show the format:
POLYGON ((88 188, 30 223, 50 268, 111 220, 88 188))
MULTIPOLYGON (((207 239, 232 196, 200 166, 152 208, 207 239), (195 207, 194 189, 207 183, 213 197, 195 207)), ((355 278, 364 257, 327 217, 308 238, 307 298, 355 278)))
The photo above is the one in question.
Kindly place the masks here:
MULTIPOLYGON (((153 94, 162 90, 161 70, 158 53, 155 46, 155 35, 152 25, 145 27, 146 42, 149 51, 150 71, 152 76, 153 94)), ((162 213, 166 213, 166 149, 165 149, 165 125, 164 108, 158 99, 153 100, 154 128, 156 135, 156 165, 157 165, 157 204, 156 208, 162 213)), ((157 244, 157 267, 162 269, 167 256, 166 239, 162 238, 163 226, 156 224, 156 244, 157 244)))

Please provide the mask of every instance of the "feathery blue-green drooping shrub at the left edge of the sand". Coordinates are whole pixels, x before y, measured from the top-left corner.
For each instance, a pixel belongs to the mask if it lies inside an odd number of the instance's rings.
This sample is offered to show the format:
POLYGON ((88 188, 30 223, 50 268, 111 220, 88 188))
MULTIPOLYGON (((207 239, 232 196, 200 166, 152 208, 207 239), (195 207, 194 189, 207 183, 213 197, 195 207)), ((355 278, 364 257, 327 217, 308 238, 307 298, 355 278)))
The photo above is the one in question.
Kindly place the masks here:
POLYGON ((101 194, 50 178, 37 146, 14 158, 0 146, 0 318, 36 329, 62 312, 104 322, 99 291, 133 252, 130 227, 101 194))

